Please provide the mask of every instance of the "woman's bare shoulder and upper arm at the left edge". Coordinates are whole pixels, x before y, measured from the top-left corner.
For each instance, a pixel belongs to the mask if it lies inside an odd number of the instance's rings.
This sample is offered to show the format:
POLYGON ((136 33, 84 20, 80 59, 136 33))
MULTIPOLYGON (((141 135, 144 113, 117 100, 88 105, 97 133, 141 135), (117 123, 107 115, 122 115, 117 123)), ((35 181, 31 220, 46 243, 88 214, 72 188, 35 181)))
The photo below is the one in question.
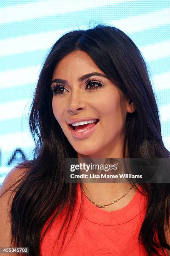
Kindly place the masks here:
MULTIPOLYGON (((19 169, 15 167, 7 174, 2 182, 2 185, 0 186, 0 247, 13 247, 13 244, 10 246, 10 208, 13 197, 17 192, 15 190, 15 183, 20 182, 22 177, 27 175, 27 173, 27 169, 19 169)), ((3 253, 1 255, 7 256, 8 254, 3 253)))

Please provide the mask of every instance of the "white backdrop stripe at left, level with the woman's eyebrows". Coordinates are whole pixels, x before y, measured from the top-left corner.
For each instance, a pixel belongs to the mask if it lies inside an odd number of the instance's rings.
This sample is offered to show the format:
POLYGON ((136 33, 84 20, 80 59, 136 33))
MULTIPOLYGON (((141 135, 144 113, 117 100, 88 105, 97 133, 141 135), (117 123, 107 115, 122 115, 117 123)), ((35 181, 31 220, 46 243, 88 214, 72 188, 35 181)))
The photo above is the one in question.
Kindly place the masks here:
POLYGON ((0 72, 0 89, 28 84, 33 92, 39 74, 40 65, 0 72))

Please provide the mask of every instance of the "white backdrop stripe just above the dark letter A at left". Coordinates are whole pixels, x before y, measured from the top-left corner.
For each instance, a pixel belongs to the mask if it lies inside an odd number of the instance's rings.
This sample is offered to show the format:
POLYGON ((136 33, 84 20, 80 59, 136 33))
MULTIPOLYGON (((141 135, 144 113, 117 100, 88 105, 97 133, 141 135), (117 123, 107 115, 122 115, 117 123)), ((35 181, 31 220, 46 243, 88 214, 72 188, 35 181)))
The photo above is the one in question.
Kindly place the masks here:
POLYGON ((29 131, 8 133, 0 136, 0 148, 3 152, 13 151, 15 148, 33 148, 35 145, 29 131))

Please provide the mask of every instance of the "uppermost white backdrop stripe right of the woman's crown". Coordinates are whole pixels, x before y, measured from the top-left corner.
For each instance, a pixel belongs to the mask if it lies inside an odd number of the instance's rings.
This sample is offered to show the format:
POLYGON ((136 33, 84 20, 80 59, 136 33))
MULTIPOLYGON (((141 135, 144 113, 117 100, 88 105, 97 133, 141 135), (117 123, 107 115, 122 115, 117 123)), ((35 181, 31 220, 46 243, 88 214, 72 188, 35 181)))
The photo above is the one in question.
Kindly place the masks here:
POLYGON ((170 24, 170 8, 121 20, 112 20, 111 24, 125 33, 134 33, 145 29, 157 28, 170 24))

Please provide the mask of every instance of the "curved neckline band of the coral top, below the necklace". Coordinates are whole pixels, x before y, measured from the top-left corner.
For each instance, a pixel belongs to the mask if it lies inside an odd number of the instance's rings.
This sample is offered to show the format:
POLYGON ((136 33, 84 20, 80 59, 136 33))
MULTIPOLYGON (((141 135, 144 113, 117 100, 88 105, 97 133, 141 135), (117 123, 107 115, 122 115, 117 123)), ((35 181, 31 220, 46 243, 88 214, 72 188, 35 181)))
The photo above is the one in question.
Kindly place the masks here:
POLYGON ((126 223, 140 214, 140 212, 142 212, 146 207, 147 203, 146 196, 137 191, 128 205, 119 210, 108 212, 102 210, 102 208, 96 207, 92 202, 90 202, 90 200, 88 200, 85 194, 82 192, 79 183, 77 183, 77 191, 78 207, 76 207, 76 209, 79 210, 80 204, 82 203, 82 217, 100 225, 120 225, 126 223))

